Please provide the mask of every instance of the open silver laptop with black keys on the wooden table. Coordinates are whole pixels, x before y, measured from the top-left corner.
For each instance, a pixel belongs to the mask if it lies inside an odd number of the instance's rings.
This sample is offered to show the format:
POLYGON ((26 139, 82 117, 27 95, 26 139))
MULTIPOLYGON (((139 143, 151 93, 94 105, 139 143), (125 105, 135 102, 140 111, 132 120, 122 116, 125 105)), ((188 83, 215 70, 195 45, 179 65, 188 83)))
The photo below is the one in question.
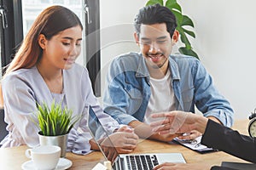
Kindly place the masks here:
POLYGON ((88 112, 88 127, 91 136, 96 140, 96 144, 99 146, 105 159, 108 161, 114 160, 112 161, 113 170, 152 169, 154 166, 164 162, 186 163, 181 153, 119 154, 91 106, 89 106, 88 112), (114 152, 113 156, 116 156, 111 160, 108 159, 108 153, 104 153, 104 150, 102 150, 102 147, 97 142, 97 139, 100 139, 103 135, 109 139, 114 152))

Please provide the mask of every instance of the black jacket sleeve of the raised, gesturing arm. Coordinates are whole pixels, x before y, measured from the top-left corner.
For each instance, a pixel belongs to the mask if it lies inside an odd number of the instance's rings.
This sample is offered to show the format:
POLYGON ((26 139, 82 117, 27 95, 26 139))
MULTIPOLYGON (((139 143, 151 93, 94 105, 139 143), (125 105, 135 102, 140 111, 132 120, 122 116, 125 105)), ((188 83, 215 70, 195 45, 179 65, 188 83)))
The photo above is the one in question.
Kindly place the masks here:
POLYGON ((256 163, 255 138, 242 135, 212 120, 207 122, 207 128, 202 136, 201 144, 256 163))

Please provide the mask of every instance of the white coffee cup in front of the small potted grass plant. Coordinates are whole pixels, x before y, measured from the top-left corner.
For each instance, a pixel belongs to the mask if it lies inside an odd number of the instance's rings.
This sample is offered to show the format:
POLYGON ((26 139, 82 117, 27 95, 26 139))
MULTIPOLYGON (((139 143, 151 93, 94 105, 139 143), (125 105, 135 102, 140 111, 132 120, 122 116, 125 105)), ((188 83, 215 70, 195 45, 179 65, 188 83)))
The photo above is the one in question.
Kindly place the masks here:
POLYGON ((26 157, 31 158, 38 170, 55 169, 61 157, 61 148, 55 145, 40 145, 27 149, 26 157))

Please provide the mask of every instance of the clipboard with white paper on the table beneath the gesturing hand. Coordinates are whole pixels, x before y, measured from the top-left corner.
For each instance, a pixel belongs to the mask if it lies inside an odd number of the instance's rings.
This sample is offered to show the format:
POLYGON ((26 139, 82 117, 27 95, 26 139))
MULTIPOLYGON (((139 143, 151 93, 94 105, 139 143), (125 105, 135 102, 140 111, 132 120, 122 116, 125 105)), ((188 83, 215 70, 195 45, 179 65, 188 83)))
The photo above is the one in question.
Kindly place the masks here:
POLYGON ((201 136, 197 137, 196 139, 191 139, 191 140, 183 140, 183 139, 178 139, 175 138, 173 139, 174 142, 177 144, 182 144, 183 146, 195 150, 200 153, 207 153, 207 152, 212 152, 212 151, 218 151, 212 148, 208 148, 206 145, 201 144, 201 136))

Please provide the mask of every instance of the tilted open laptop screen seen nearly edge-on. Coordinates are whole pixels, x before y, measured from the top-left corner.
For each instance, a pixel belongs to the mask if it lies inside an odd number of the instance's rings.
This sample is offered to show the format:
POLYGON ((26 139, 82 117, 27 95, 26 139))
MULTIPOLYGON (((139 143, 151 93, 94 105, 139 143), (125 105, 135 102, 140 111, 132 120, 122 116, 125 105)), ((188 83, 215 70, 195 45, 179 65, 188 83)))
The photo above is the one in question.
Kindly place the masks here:
POLYGON ((103 156, 108 161, 113 161, 119 156, 118 151, 115 149, 113 142, 108 136, 107 131, 104 129, 102 123, 100 122, 99 118, 96 116, 96 113, 93 111, 92 107, 89 106, 88 111, 88 127, 90 129, 91 136, 93 139, 96 140, 96 144, 98 145, 99 149, 102 151, 103 156), (98 143, 99 140, 105 138, 104 143, 108 145, 104 145, 104 148, 98 143))

